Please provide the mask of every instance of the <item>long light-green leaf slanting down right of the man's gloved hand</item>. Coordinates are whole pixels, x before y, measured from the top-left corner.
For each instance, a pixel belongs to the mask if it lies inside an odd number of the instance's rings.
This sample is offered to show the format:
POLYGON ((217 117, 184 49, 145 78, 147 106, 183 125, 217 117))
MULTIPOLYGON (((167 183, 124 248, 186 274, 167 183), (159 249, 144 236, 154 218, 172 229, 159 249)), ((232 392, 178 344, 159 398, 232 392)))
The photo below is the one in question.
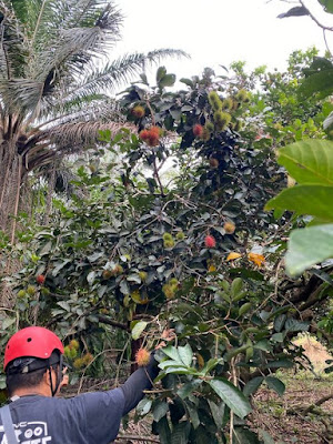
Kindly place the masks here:
POLYGON ((244 418, 252 411, 243 393, 228 380, 214 379, 206 383, 239 417, 244 418))

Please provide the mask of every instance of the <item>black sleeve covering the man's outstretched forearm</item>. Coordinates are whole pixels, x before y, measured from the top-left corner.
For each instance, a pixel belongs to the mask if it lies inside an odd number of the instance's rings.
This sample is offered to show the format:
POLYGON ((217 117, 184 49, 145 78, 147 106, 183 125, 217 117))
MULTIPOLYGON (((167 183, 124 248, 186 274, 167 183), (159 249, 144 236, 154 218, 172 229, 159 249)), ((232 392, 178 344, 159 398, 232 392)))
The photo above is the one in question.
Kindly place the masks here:
POLYGON ((152 381, 158 376, 159 367, 153 354, 145 367, 138 369, 120 387, 124 395, 123 415, 134 408, 144 396, 143 391, 152 387, 152 381))

